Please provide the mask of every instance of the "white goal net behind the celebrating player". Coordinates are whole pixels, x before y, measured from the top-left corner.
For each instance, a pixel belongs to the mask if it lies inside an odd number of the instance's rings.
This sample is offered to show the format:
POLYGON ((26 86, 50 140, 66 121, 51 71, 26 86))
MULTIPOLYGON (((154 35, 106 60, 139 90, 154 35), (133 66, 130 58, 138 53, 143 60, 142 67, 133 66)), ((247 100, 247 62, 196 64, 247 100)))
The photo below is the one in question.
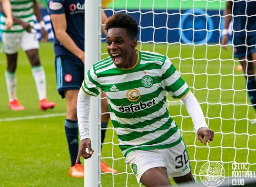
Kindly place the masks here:
MULTIPOLYGON (((102 9, 108 17, 122 12, 138 21, 138 49, 154 51, 171 60, 200 103, 209 128, 215 132, 212 142, 200 143, 185 105, 167 97, 170 116, 187 145, 193 176, 200 181, 200 168, 209 161, 220 163, 226 170, 226 177, 233 177, 233 163, 245 163, 247 170, 256 170, 256 126, 251 124, 255 111, 246 93, 245 75, 236 68, 239 61, 232 55, 231 25, 228 50, 220 45, 226 1, 107 1, 103 0, 102 9)), ((105 39, 102 35, 101 58, 108 56, 105 39)), ((111 122, 98 157, 118 173, 101 172, 97 185, 139 186, 124 163, 111 122)))

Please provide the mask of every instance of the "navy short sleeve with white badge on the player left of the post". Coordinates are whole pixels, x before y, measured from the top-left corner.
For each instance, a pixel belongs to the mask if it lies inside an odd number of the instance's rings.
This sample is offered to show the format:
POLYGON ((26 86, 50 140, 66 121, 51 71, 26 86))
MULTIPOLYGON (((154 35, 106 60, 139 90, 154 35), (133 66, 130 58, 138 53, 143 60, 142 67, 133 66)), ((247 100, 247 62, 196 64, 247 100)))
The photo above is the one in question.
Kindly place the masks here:
POLYGON ((65 0, 47 0, 47 11, 51 14, 64 14, 65 0))

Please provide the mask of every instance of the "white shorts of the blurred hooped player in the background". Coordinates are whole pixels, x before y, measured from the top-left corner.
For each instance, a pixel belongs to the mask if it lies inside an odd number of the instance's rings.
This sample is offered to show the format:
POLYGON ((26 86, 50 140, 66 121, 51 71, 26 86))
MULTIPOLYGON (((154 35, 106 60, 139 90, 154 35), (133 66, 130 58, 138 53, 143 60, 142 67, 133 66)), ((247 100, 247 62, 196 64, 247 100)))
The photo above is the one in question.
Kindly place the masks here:
POLYGON ((3 32, 1 35, 2 50, 6 54, 11 55, 17 53, 20 47, 24 51, 39 48, 35 29, 31 29, 31 33, 28 33, 27 31, 15 33, 3 32))

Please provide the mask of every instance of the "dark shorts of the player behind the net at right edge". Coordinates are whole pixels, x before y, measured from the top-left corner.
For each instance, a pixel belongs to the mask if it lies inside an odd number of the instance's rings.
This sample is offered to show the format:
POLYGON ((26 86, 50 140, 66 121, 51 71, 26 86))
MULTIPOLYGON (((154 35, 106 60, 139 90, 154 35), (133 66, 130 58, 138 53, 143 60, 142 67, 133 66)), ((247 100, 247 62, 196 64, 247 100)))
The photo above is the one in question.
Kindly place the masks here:
POLYGON ((256 52, 256 35, 250 37, 234 36, 234 57, 240 58, 256 52))

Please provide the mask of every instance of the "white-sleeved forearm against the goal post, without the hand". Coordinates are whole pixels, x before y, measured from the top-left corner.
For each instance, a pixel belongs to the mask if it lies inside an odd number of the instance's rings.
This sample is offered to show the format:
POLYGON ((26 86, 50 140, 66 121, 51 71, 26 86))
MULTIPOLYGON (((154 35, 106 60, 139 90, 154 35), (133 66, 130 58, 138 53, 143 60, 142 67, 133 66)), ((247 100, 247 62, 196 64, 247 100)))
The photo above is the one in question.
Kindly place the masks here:
POLYGON ((90 96, 79 90, 77 102, 77 116, 80 133, 80 140, 89 138, 89 112, 90 112, 90 96))

